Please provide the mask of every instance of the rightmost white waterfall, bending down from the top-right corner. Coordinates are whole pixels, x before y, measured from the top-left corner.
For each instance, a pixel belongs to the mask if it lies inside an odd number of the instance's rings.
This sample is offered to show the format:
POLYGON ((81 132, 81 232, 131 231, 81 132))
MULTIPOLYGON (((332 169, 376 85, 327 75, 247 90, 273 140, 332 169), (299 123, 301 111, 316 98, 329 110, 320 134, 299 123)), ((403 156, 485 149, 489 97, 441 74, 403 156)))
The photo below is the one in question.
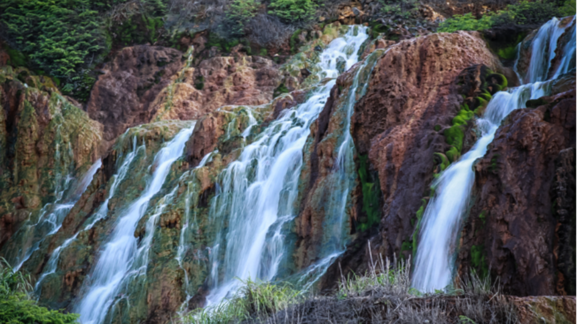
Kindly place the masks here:
MULTIPOLYGON (((461 219, 469 207, 475 179, 472 164, 486 154, 488 144, 508 114, 525 107, 529 99, 549 94, 550 81, 544 80, 549 74, 550 62, 555 57, 558 38, 568 25, 561 25, 560 20, 553 18, 539 29, 532 41, 531 63, 524 77, 527 84, 497 92, 492 97, 484 116, 477 120, 481 132, 479 140, 433 183, 435 193, 425 209, 413 273, 413 286, 419 291, 433 292, 451 284, 453 251, 461 229, 461 219)), ((572 31, 572 35, 576 38, 576 30, 572 31)), ((576 55, 576 47, 566 46, 562 53, 563 62, 573 55, 576 55)), ((576 60, 568 61, 558 67, 554 76, 560 76, 575 67, 576 60)))

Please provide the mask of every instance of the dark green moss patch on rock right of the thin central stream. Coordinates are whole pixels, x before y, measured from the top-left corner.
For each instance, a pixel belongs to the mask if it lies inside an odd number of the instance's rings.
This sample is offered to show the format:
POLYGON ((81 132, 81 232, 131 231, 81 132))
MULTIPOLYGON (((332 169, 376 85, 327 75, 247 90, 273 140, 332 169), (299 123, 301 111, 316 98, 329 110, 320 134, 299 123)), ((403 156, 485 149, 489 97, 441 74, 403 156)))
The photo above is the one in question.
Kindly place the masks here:
POLYGON ((365 222, 360 222, 358 229, 362 232, 379 224, 380 221, 380 196, 381 190, 379 188, 379 180, 372 181, 369 174, 369 161, 367 155, 360 155, 360 167, 357 170, 361 181, 361 191, 363 193, 363 207, 362 211, 365 213, 367 219, 365 222))

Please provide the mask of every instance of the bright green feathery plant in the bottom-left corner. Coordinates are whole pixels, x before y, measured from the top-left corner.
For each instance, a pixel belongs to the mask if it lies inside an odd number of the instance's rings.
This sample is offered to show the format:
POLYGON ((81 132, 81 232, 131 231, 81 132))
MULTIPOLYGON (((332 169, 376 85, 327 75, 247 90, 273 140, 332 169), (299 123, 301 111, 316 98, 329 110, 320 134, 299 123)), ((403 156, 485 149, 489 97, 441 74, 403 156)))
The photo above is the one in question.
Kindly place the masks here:
POLYGON ((31 299, 32 285, 20 271, 14 272, 5 259, 0 258, 0 319, 10 324, 68 324, 77 323, 77 314, 63 314, 39 307, 31 299))

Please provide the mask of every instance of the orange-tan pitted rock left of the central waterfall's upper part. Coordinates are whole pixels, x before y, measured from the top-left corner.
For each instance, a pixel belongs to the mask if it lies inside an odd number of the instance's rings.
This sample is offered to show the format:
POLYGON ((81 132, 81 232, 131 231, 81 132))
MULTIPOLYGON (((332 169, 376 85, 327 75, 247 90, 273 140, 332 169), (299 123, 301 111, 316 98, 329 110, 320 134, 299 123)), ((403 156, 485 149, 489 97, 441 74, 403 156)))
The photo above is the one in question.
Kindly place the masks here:
POLYGON ((195 120, 225 105, 258 106, 280 84, 273 61, 257 56, 213 57, 184 68, 151 103, 158 120, 195 120))

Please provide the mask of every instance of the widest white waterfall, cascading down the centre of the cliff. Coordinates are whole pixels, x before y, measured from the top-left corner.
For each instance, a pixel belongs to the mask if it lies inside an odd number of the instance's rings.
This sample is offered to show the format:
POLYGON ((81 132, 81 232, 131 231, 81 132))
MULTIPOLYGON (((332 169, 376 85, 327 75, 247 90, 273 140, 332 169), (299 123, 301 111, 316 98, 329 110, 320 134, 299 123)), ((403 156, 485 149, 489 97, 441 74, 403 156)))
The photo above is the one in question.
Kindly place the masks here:
POLYGON ((283 111, 220 174, 220 190, 209 211, 218 234, 210 251, 208 306, 235 293, 240 280, 275 277, 286 249, 282 229, 296 214, 294 202, 310 125, 335 85, 338 62, 345 61, 346 70, 357 63, 357 53, 368 38, 366 29, 349 27, 344 36, 329 43, 318 68, 320 79, 332 79, 318 84, 306 102, 283 111))

